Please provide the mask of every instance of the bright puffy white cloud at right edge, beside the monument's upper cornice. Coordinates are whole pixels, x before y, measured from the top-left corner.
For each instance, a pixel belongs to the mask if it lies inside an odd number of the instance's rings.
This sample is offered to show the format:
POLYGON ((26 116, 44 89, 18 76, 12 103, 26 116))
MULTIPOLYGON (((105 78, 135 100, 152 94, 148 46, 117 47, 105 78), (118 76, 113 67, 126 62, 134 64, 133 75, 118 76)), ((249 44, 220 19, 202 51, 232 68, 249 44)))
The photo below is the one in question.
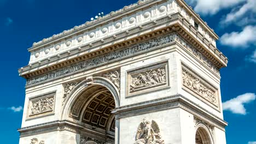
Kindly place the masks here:
POLYGON ((220 37, 222 45, 246 48, 256 44, 256 26, 246 26, 242 32, 225 33, 220 37))

